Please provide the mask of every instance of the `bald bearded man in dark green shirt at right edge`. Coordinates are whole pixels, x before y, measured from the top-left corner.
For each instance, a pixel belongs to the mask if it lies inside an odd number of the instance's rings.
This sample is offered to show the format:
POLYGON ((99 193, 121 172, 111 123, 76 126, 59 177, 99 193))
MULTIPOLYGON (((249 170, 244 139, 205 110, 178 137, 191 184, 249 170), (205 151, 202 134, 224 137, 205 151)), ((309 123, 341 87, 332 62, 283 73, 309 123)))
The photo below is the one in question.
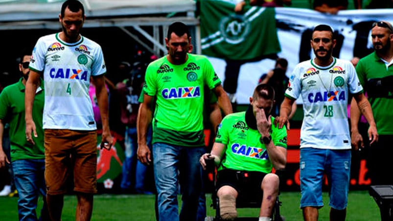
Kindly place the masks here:
MULTIPOLYGON (((371 104, 378 131, 378 141, 370 145, 367 159, 372 185, 393 185, 393 176, 385 169, 393 167, 393 28, 385 21, 374 22, 371 29, 374 52, 360 59, 356 66, 359 81, 371 104)), ((363 138, 358 130, 360 110, 351 104, 352 145, 363 147, 363 138)))

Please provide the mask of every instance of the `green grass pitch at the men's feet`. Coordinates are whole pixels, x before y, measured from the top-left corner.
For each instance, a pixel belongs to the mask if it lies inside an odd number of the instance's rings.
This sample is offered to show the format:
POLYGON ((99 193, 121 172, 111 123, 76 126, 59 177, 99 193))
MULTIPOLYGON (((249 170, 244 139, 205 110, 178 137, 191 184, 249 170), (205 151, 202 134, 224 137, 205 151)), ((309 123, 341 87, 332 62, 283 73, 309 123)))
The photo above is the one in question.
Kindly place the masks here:
MULTIPOLYGON (((211 203, 208 198, 208 216, 214 215, 214 210, 209 207, 211 203)), ((299 192, 282 192, 281 214, 286 221, 301 221, 302 215, 299 209, 299 192)), ((63 208, 63 221, 75 220, 76 198, 66 196, 63 208)), ((180 199, 179 199, 180 201, 180 199)), ((379 208, 374 199, 367 191, 351 191, 348 196, 347 221, 379 221, 379 208)), ((17 221, 18 209, 17 198, 0 198, 0 220, 17 221)), ((320 209, 320 221, 329 220, 328 196, 324 193, 325 206, 320 209)), ((42 207, 40 199, 39 208, 42 207)), ((39 211, 37 211, 39 213, 39 211)), ((258 209, 239 209, 239 217, 256 217, 258 209)), ((154 221, 154 196, 153 195, 96 195, 94 197, 93 221, 154 221)))

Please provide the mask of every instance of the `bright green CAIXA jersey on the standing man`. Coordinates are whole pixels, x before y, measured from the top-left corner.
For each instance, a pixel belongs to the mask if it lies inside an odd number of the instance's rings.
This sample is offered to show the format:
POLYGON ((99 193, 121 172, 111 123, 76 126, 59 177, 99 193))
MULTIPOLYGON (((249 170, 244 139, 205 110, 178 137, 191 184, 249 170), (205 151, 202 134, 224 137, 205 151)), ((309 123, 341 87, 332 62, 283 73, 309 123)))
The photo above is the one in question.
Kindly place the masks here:
POLYGON ((166 56, 146 70, 144 92, 157 97, 153 117, 153 143, 203 146, 204 86, 221 84, 205 56, 188 54, 182 65, 166 56))

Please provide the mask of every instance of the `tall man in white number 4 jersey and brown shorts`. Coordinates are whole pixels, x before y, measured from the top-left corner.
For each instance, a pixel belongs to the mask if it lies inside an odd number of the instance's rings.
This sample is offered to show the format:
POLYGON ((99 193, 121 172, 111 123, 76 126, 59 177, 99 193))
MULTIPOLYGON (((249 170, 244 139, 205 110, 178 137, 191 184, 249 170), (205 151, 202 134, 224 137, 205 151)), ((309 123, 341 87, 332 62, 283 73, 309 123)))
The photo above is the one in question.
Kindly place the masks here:
POLYGON ((47 204, 51 220, 60 221, 67 179, 73 176, 78 205, 76 220, 90 220, 96 189, 96 123, 89 97, 90 76, 96 87, 102 120, 101 147, 110 149, 108 94, 104 86, 105 62, 101 47, 80 35, 85 22, 78 0, 63 3, 62 31, 41 37, 32 53, 25 91, 26 139, 37 137, 32 105, 40 74, 45 79, 45 161, 47 204), (34 136, 32 136, 32 134, 34 136))

